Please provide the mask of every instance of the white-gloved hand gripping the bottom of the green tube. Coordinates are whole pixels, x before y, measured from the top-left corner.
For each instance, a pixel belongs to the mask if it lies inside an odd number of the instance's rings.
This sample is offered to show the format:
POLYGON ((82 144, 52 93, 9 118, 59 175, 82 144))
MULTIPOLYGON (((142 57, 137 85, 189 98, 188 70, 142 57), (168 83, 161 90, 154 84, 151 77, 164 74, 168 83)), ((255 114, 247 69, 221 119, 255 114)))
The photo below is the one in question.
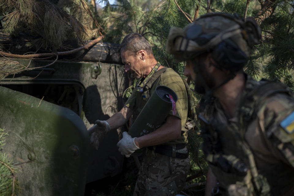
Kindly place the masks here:
POLYGON ((132 138, 126 131, 123 132, 123 139, 121 139, 116 145, 119 147, 119 152, 126 157, 130 157, 135 150, 140 149, 135 144, 135 138, 132 138))

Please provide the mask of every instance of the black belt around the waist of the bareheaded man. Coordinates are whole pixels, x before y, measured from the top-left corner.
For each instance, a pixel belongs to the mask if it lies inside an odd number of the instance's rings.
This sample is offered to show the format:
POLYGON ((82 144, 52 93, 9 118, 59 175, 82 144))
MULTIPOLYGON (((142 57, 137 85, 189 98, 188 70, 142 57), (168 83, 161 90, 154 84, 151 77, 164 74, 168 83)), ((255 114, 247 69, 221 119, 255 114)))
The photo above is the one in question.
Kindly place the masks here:
POLYGON ((155 153, 162 154, 165 156, 171 156, 179 159, 187 159, 189 156, 189 151, 187 153, 178 153, 176 150, 180 150, 186 147, 186 144, 176 144, 176 145, 157 145, 148 146, 149 150, 154 150, 155 153), (173 150, 174 149, 174 150, 173 150))

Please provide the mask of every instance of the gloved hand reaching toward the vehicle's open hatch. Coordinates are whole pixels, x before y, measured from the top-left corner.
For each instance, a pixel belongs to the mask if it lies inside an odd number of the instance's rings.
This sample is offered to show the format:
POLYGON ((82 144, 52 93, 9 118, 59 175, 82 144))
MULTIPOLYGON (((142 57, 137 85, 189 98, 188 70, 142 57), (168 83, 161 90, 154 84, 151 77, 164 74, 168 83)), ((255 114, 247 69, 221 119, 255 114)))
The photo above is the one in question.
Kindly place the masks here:
POLYGON ((100 140, 110 130, 110 127, 105 120, 96 120, 95 123, 96 124, 88 130, 88 133, 90 135, 90 144, 98 149, 100 140))

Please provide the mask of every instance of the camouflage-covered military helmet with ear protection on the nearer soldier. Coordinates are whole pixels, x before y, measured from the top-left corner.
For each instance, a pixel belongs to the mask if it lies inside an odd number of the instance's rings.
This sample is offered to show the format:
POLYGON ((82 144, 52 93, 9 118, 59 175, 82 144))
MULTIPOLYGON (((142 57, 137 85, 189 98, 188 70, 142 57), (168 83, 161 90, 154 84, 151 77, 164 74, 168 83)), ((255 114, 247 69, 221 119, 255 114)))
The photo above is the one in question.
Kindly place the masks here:
POLYGON ((238 71, 247 63, 260 37, 261 30, 252 17, 242 21, 228 13, 208 13, 184 29, 172 27, 166 51, 177 61, 211 52, 220 68, 238 71))

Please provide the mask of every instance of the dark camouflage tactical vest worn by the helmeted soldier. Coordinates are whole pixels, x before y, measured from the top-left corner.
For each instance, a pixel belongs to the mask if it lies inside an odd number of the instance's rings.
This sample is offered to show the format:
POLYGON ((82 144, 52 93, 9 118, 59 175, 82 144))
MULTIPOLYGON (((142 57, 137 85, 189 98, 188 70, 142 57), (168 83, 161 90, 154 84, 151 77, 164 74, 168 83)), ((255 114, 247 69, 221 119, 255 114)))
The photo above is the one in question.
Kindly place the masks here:
POLYGON ((214 97, 200 101, 201 123, 204 140, 203 151, 214 175, 219 179, 222 195, 271 195, 267 179, 258 173, 253 153, 244 139, 248 124, 256 118, 259 107, 267 97, 276 93, 292 92, 283 84, 271 81, 254 81, 245 88, 241 98, 236 123, 224 125, 212 118, 214 97), (223 189, 222 189, 223 188, 223 189))

